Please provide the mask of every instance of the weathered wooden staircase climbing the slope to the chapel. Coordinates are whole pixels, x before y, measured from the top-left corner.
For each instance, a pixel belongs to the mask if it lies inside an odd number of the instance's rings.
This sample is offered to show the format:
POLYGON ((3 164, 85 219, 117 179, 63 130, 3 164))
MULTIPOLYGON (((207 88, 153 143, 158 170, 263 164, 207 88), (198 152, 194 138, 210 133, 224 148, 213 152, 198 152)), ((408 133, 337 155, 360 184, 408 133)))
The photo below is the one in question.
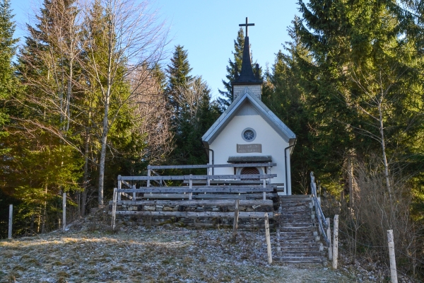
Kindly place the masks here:
POLYGON ((281 262, 326 263, 324 245, 310 195, 279 197, 276 224, 276 257, 281 262))

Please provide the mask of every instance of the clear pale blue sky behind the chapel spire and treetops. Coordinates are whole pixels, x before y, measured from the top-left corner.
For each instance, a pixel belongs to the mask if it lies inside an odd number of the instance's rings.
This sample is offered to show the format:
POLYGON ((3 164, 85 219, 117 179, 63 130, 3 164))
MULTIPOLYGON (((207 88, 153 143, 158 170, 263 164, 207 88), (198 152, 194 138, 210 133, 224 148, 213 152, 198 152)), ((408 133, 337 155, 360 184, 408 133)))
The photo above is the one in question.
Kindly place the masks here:
MULTIPOLYGON (((40 0, 41 2, 41 0, 40 0)), ((239 23, 249 17, 249 40, 253 59, 265 67, 273 64, 282 43, 290 40, 287 28, 298 13, 297 0, 156 0, 160 16, 170 28, 170 52, 175 45, 183 45, 189 53, 192 75, 202 76, 218 96, 223 89, 225 67, 232 58, 234 40, 239 23)), ((16 36, 22 37, 25 23, 37 0, 11 0, 14 20, 18 27, 16 36)))

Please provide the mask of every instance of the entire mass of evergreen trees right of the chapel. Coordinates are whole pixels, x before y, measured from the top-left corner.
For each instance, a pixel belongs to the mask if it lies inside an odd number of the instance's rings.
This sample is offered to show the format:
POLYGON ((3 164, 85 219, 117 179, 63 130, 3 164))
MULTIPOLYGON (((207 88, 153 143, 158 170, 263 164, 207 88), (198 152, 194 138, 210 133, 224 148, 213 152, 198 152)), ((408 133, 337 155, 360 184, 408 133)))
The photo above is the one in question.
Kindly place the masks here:
POLYGON ((412 228, 423 225, 422 7, 326 0, 299 6, 263 96, 298 137, 293 192, 308 193, 314 171, 326 214, 341 214, 351 250, 386 260, 368 247, 385 244, 393 229, 399 262, 411 260, 406 254, 422 258, 414 239, 422 234, 412 228))

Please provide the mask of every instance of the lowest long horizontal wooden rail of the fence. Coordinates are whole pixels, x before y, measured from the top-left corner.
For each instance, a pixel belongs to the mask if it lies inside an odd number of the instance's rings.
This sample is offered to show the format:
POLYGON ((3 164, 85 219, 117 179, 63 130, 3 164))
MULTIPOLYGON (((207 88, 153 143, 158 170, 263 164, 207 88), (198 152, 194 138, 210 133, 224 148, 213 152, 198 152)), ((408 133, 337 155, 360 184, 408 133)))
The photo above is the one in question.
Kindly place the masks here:
MULTIPOLYGON (((171 217, 234 217, 234 212, 138 212, 133 210, 117 211, 120 215, 171 216, 171 217)), ((273 214, 269 214, 272 218, 273 214)), ((239 218, 264 218, 264 212, 239 212, 239 218)))

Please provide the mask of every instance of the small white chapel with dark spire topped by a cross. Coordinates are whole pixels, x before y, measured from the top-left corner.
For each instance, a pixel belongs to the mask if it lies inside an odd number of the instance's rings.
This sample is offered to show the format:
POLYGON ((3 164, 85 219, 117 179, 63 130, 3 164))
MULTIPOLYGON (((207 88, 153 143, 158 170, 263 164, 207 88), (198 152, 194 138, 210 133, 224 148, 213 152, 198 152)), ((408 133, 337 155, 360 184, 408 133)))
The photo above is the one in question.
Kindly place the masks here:
MULTIPOLYGON (((263 81, 255 76, 246 27, 240 75, 232 81, 233 102, 202 137, 210 164, 264 163, 264 166, 214 168, 215 175, 277 174, 278 195, 291 195, 290 156, 295 134, 261 101, 263 81), (276 163, 270 168, 266 163, 276 163)), ((258 66, 257 66, 258 69, 258 66)), ((236 70, 237 73, 237 70, 236 70)), ((259 71, 256 72, 259 74, 259 71)))

